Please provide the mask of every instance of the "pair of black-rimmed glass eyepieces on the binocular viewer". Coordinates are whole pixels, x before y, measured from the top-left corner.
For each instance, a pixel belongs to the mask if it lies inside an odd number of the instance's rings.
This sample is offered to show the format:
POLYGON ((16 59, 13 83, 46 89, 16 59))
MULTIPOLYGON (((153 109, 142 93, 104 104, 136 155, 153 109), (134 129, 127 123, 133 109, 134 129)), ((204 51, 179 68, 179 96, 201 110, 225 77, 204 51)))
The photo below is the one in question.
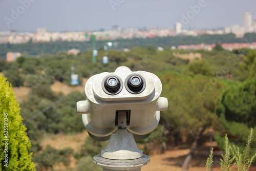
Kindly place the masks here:
MULTIPOLYGON (((125 89, 132 94, 139 94, 146 87, 145 78, 140 74, 127 76, 124 83, 125 89)), ((117 75, 108 75, 103 79, 101 87, 106 94, 116 95, 122 90, 122 79, 117 75)))

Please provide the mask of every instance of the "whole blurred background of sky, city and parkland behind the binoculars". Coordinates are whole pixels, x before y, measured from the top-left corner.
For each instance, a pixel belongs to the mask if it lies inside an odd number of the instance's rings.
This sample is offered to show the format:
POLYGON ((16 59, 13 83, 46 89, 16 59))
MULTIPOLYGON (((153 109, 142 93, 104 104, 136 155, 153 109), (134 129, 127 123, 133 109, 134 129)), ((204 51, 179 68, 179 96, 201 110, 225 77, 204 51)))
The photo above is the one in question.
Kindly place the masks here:
POLYGON ((91 76, 126 66, 156 74, 169 102, 157 129, 137 141, 151 157, 142 170, 205 170, 212 147, 212 167, 220 170, 225 134, 242 147, 256 123, 255 7, 0 0, 0 72, 20 104, 36 169, 102 170, 92 157, 107 142, 88 136, 76 102, 86 100, 91 76))

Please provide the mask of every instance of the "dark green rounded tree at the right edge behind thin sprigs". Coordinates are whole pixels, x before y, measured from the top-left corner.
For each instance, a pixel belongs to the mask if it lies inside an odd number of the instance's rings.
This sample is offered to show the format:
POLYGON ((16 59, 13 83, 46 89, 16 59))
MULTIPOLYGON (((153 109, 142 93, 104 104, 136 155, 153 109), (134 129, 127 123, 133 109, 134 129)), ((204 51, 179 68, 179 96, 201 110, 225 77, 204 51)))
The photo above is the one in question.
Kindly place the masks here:
MULTIPOLYGON (((250 127, 256 126, 256 77, 228 87, 217 100, 216 113, 226 132, 238 139, 231 142, 237 146, 246 144, 250 127)), ((255 132, 253 137, 255 137, 255 132)), ((223 147, 224 136, 216 134, 216 141, 223 147)), ((251 141, 252 152, 256 152, 256 139, 251 141)))

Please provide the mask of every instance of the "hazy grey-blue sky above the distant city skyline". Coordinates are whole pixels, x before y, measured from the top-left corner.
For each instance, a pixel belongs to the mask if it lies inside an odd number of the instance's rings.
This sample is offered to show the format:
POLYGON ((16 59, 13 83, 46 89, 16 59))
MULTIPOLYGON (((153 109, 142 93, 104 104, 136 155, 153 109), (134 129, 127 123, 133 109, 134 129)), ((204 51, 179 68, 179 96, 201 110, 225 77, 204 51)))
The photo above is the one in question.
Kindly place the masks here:
POLYGON ((0 0, 0 31, 83 31, 119 27, 217 28, 256 17, 255 0, 0 0), (200 9, 198 8, 200 7, 200 9), (194 11, 193 9, 194 8, 194 11), (184 16, 187 18, 184 19, 184 16))

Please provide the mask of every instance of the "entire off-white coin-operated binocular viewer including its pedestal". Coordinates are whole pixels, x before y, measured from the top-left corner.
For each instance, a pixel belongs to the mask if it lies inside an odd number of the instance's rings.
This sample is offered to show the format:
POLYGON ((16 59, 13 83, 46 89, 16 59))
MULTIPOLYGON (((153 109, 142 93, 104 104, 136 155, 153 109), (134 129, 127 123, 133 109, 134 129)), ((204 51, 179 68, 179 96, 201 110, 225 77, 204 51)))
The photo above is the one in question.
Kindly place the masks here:
POLYGON ((92 76, 84 88, 87 100, 77 102, 77 113, 89 135, 109 140, 94 162, 103 170, 141 170, 150 162, 135 139, 144 139, 157 127, 168 101, 160 97, 160 79, 149 72, 119 67, 113 73, 92 76))

